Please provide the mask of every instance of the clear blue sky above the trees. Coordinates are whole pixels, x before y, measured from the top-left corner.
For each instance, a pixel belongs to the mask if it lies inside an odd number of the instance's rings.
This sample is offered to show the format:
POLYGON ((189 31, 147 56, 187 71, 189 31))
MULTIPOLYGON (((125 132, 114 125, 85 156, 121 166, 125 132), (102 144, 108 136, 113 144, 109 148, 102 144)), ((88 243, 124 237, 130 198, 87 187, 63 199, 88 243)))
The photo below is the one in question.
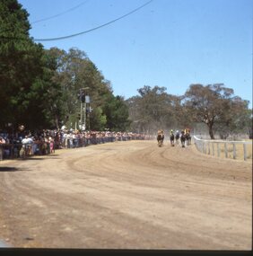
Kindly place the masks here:
MULTIPOLYGON (((91 30, 147 2, 19 0, 30 13, 34 39, 91 30)), ((125 99, 144 85, 164 86, 167 93, 182 95, 190 84, 222 83, 252 108, 252 3, 153 0, 98 30, 41 43, 45 49, 83 50, 111 82, 114 94, 125 99)))

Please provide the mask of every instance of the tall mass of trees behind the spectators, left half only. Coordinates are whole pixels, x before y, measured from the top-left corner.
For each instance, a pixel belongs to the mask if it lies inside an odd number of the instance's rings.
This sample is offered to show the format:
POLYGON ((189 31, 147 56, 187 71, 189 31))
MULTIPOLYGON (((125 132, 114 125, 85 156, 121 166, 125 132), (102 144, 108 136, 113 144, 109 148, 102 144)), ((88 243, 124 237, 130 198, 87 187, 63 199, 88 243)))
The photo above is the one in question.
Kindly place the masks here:
POLYGON ((126 102, 79 49, 44 49, 29 36, 29 13, 16 0, 0 2, 0 127, 60 128, 78 121, 78 92, 89 87, 91 128, 124 130, 126 102))

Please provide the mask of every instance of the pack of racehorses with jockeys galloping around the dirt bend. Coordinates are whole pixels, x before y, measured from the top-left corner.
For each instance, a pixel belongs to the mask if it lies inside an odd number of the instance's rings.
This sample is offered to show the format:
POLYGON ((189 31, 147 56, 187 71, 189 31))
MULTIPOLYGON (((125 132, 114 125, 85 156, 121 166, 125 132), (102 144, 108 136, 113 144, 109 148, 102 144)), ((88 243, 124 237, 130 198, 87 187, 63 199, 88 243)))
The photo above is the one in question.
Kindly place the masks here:
MULTIPOLYGON (((163 140, 164 140, 164 132, 163 130, 158 130, 157 132, 158 146, 163 145, 163 140)), ((189 128, 182 129, 181 132, 177 130, 175 134, 173 129, 170 129, 170 146, 179 145, 179 142, 182 147, 185 147, 191 144, 191 136, 190 136, 189 128)))

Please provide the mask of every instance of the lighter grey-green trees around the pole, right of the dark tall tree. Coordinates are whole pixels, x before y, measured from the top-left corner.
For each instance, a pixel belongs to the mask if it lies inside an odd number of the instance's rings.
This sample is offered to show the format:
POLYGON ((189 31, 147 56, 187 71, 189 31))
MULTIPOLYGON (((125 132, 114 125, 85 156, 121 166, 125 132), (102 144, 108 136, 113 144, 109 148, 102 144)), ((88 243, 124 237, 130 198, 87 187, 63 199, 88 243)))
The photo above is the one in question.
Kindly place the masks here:
MULTIPOLYGON (((61 91, 66 116, 73 121, 76 112, 80 111, 80 90, 89 94, 92 112, 89 112, 89 127, 101 130, 125 129, 128 126, 128 109, 124 100, 113 95, 110 82, 104 78, 98 68, 79 49, 69 49, 69 52, 57 48, 49 49, 48 54, 57 61, 57 72, 53 81, 61 84, 61 91)), ((66 121, 66 119, 64 119, 66 121)))

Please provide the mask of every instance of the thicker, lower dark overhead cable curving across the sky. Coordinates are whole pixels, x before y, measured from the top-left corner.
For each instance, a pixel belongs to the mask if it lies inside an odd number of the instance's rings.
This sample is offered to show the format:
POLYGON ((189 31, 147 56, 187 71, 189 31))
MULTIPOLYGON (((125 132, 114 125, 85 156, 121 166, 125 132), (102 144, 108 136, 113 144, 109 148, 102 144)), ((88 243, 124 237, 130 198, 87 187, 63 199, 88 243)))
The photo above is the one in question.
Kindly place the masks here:
POLYGON ((58 37, 58 38, 51 38, 51 39, 34 39, 34 41, 65 40, 65 39, 73 38, 73 37, 76 37, 76 36, 80 36, 80 35, 85 34, 85 33, 88 33, 88 32, 96 31, 96 30, 98 30, 98 29, 100 29, 100 28, 102 28, 102 27, 105 27, 105 26, 107 26, 107 25, 113 23, 113 22, 117 22, 118 20, 121 20, 121 19, 125 18, 126 16, 128 16, 128 15, 130 15, 130 14, 132 14, 132 13, 137 12, 138 10, 144 8, 145 5, 150 4, 151 2, 153 2, 153 0, 150 0, 150 1, 146 2, 145 4, 143 4, 143 5, 139 6, 139 7, 137 7, 135 10, 133 10, 133 11, 131 11, 131 12, 129 12, 129 13, 126 13, 125 15, 120 16, 120 17, 118 17, 118 18, 115 19, 115 20, 112 20, 112 21, 110 21, 110 22, 104 23, 104 24, 102 24, 102 25, 100 25, 100 26, 98 26, 98 27, 92 28, 91 30, 82 31, 82 32, 79 32, 79 33, 75 33, 75 34, 68 35, 68 36, 64 36, 64 37, 58 37))

